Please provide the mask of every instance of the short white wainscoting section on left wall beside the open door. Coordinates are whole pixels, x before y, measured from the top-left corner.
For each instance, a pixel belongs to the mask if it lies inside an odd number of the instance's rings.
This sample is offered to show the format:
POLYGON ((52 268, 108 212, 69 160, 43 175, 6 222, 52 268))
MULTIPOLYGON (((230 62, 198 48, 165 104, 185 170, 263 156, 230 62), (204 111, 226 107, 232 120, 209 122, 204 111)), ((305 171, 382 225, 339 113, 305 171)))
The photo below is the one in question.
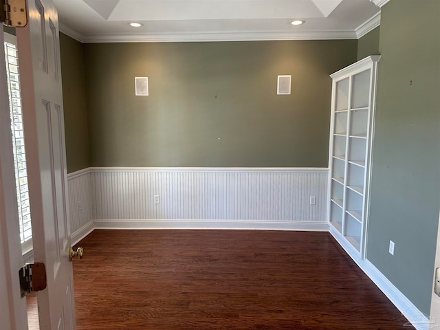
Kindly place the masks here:
POLYGON ((72 245, 94 230, 94 192, 89 168, 67 175, 72 245))

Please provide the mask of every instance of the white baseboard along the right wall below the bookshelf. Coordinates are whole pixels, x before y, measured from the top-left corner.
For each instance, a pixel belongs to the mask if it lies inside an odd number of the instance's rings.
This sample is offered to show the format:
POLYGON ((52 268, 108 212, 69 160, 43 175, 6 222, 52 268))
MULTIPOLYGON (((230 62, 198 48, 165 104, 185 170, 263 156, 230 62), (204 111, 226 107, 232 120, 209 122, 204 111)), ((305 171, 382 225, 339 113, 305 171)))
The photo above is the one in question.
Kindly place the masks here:
MULTIPOLYGON (((417 330, 428 330, 430 322, 428 317, 423 314, 414 304, 410 302, 408 298, 404 294, 400 292, 393 283, 391 283, 388 278, 384 276, 378 270, 373 263, 369 260, 362 260, 357 251, 354 250, 353 246, 351 246, 347 241, 343 239, 341 234, 336 231, 333 226, 329 226, 329 232, 331 235, 338 241, 341 247, 349 254, 351 259, 360 267, 362 272, 369 276, 371 281, 375 283, 375 285, 385 294, 385 296, 399 309, 401 314, 405 316, 410 324, 415 327, 417 330)), ((403 327, 409 326, 402 325, 403 327)))

